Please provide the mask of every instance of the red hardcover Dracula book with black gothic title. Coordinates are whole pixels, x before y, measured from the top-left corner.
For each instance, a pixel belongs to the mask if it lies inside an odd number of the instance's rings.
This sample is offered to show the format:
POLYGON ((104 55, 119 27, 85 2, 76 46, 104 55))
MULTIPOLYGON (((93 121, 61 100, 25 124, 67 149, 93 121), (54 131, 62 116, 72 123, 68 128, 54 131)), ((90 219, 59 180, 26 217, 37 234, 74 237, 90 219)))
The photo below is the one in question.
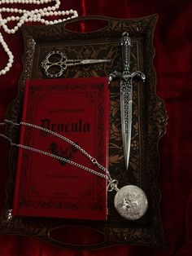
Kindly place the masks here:
MULTIPOLYGON (((103 166, 108 163, 107 77, 28 80, 22 121, 71 139, 103 166)), ((103 173, 70 143, 21 126, 20 144, 103 173)), ((107 180, 76 166, 20 148, 13 214, 53 218, 107 218, 107 180)))

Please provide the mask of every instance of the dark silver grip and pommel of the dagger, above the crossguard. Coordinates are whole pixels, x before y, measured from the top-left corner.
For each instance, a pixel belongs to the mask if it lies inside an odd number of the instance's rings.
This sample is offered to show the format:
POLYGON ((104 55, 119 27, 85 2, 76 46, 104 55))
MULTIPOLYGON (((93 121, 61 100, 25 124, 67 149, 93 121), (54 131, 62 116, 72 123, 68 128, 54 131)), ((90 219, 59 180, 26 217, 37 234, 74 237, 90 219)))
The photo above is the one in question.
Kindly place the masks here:
POLYGON ((123 63, 123 72, 129 73, 130 68, 130 55, 131 55, 131 38, 129 37, 128 32, 122 34, 120 39, 121 52, 122 52, 122 63, 123 63))

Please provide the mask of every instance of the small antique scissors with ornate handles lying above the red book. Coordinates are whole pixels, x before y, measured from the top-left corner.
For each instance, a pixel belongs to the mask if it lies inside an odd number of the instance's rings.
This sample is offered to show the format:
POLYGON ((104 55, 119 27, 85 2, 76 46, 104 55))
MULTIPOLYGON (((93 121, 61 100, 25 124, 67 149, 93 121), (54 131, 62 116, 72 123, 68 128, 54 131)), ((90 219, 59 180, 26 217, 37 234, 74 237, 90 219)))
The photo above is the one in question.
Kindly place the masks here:
POLYGON ((41 62, 41 67, 45 69, 47 77, 60 77, 70 66, 81 64, 106 63, 111 60, 68 60, 62 51, 50 51, 46 59, 41 62))

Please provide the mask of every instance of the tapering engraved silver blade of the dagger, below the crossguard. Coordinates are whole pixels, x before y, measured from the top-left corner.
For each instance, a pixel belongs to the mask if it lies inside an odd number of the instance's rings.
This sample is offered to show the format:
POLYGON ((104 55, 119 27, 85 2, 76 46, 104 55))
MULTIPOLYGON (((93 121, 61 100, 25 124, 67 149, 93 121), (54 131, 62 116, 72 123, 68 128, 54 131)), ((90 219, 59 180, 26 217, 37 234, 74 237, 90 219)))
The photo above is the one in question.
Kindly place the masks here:
POLYGON ((126 170, 128 170, 129 167, 129 155, 131 145, 133 104, 132 90, 133 87, 130 81, 120 81, 120 117, 126 170))

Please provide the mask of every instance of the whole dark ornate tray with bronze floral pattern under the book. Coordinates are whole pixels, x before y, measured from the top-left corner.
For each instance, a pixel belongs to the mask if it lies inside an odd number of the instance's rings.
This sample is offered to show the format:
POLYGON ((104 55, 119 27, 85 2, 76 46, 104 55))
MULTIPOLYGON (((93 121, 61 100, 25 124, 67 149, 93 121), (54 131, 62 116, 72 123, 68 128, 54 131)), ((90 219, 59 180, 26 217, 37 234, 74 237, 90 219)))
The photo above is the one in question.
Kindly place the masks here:
MULTIPOLYGON (((149 208, 137 221, 128 221, 117 214, 114 194, 108 196, 107 221, 80 221, 59 218, 15 218, 11 215, 15 184, 17 148, 11 149, 11 179, 7 184, 7 201, 0 216, 0 233, 27 235, 48 241, 51 244, 71 249, 97 249, 111 245, 133 244, 165 248, 164 232, 159 214, 159 172, 158 142, 165 133, 166 113, 164 104, 155 94, 155 70, 153 68, 153 33, 157 15, 137 20, 117 20, 103 16, 86 16, 61 24, 49 26, 25 26, 24 72, 20 77, 19 92, 10 105, 7 118, 20 121, 23 104, 24 81, 28 78, 44 79, 41 61, 50 51, 63 51, 69 59, 111 59, 104 66, 92 64, 68 68, 63 77, 100 77, 114 70, 122 71, 120 37, 126 31, 132 38, 131 70, 146 74, 146 82, 134 80, 133 84, 133 137, 129 173, 124 168, 120 127, 120 82, 110 85, 110 141, 109 170, 120 182, 120 187, 134 184, 142 188, 148 197, 149 208), (97 31, 80 33, 78 25, 89 21, 92 24, 105 23, 97 31), (104 68, 103 68, 104 67, 104 68), (73 239, 68 239, 72 233, 73 239), (77 240, 74 236, 82 238, 77 240), (91 239, 90 239, 91 238, 91 239), (76 242, 75 242, 76 241, 76 242)), ((89 25, 89 23, 87 24, 89 25)), ((7 126, 7 134, 19 140, 20 130, 7 126)))

